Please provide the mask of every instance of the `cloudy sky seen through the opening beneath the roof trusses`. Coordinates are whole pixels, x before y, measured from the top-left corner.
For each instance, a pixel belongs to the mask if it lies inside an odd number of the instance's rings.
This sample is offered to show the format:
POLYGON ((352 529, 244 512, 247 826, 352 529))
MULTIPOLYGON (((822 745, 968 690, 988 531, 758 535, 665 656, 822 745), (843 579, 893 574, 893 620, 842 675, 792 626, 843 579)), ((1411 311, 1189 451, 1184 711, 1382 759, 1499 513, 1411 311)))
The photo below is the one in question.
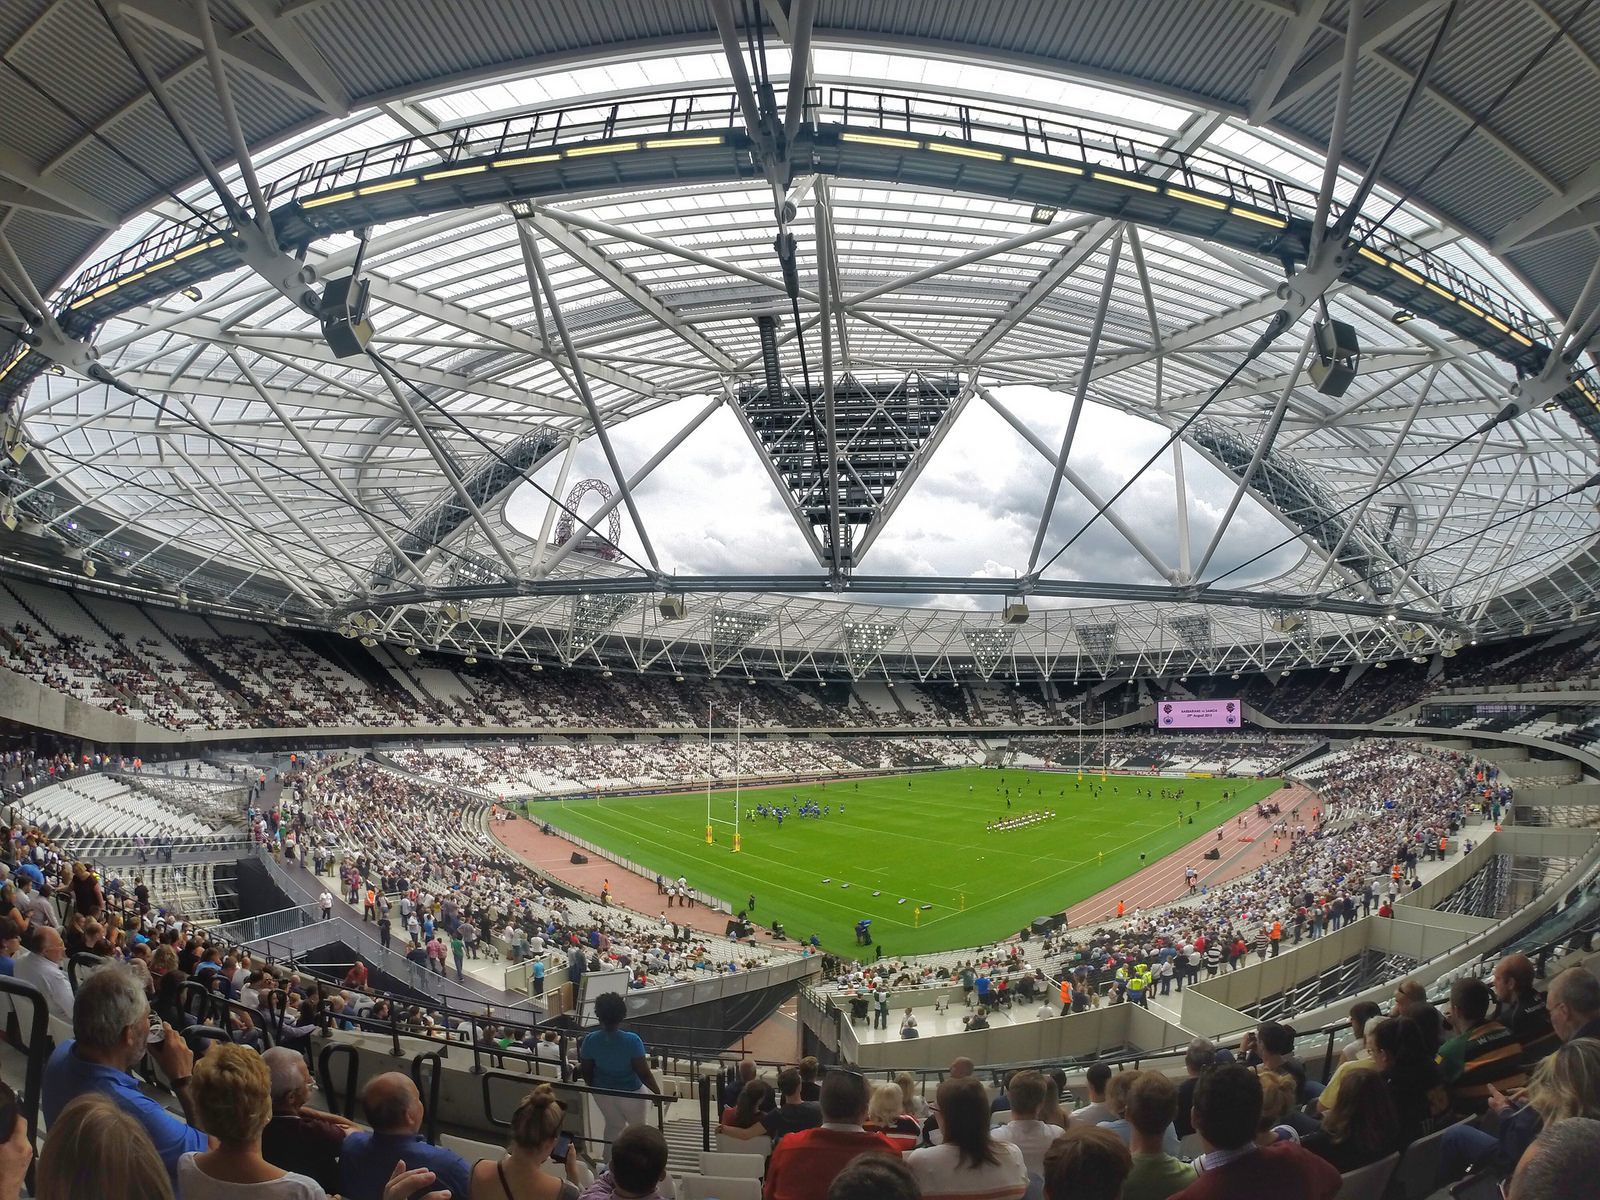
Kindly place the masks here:
MULTIPOLYGON (((995 389, 995 395, 1046 445, 1059 448, 1070 395, 1030 386, 995 389)), ((611 442, 624 474, 632 474, 643 464, 702 405, 702 398, 680 400, 614 427, 611 442)), ((1165 429, 1142 418, 1088 403, 1069 462, 1106 498, 1155 453, 1165 437, 1165 429)), ((550 462, 534 478, 554 490, 557 475, 558 462, 550 462)), ((1227 509, 1234 483, 1192 450, 1184 454, 1184 475, 1189 486, 1189 538, 1192 555, 1198 562, 1227 509)), ((998 413, 974 398, 957 418, 944 445, 912 485, 870 552, 858 563, 858 570, 906 576, 1024 574, 1050 477, 1050 462, 998 413)), ((581 478, 611 483, 597 438, 579 446, 568 490, 581 478)), ((678 446, 635 490, 635 499, 666 571, 752 574, 819 570, 755 448, 726 408, 714 413, 678 446)), ((594 512, 598 504, 598 498, 590 493, 579 504, 579 512, 594 512)), ((507 501, 506 517, 525 534, 538 536, 544 510, 544 496, 525 483, 507 501)), ((1093 510, 1082 494, 1062 483, 1045 534, 1042 560, 1077 533, 1093 510)), ((618 512, 622 522, 622 549, 643 560, 626 507, 618 512)), ((1117 501, 1114 512, 1163 562, 1179 562, 1171 451, 1138 478, 1117 501)), ((1227 571, 1286 536, 1272 514, 1246 498, 1218 547, 1206 578, 1227 571)), ((1278 574, 1298 555, 1293 544, 1283 547, 1230 578, 1227 586, 1278 574)), ((1050 568, 1046 578, 1165 582, 1104 518, 1050 568)), ((883 597, 883 602, 973 610, 997 605, 994 597, 939 595, 894 595, 883 597)), ((1048 600, 1038 603, 1050 605, 1048 600)))

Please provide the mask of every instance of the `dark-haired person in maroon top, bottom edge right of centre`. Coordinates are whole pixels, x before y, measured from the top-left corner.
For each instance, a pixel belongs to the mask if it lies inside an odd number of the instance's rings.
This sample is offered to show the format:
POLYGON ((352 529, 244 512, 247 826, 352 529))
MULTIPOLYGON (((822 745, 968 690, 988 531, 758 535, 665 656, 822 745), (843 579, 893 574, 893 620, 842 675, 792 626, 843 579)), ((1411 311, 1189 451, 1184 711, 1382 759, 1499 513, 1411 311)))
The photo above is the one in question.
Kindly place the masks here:
POLYGON ((1195 1083, 1190 1120, 1206 1152, 1200 1178, 1173 1200, 1333 1200, 1342 1179, 1299 1142, 1256 1144, 1261 1080, 1237 1064, 1211 1067, 1195 1083))

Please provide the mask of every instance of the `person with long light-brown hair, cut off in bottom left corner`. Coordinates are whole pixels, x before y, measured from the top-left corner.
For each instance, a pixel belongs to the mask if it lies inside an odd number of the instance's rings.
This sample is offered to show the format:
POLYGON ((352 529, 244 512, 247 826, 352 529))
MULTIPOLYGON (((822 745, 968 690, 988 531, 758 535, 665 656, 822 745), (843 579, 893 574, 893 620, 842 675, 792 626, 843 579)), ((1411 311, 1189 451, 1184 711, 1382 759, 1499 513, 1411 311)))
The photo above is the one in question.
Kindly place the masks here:
POLYGON ((67 1104, 50 1125, 34 1174, 37 1200, 173 1200, 150 1136, 101 1091, 67 1104))

